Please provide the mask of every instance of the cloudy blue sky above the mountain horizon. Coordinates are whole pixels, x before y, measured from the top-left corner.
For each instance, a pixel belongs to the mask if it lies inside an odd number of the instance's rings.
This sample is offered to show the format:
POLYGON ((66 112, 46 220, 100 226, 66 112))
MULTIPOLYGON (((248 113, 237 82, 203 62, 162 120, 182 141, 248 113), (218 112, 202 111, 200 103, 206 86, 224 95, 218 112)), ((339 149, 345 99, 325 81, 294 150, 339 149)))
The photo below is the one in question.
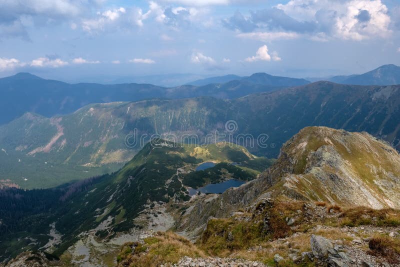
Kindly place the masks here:
POLYGON ((0 77, 292 77, 400 65, 398 0, 0 0, 0 77))

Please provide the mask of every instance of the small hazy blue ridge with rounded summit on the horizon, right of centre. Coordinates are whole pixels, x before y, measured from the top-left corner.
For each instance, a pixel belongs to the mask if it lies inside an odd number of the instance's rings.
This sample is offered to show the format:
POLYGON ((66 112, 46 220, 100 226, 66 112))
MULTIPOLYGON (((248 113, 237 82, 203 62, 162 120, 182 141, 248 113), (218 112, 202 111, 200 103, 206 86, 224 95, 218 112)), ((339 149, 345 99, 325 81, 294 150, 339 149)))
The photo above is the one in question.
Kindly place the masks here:
POLYGON ((226 83, 233 80, 245 81, 253 84, 262 84, 270 86, 298 86, 310 83, 310 81, 298 78, 289 78, 281 76, 273 76, 264 72, 254 73, 250 76, 237 76, 233 74, 209 77, 205 79, 199 79, 188 84, 202 86, 212 83, 226 83))

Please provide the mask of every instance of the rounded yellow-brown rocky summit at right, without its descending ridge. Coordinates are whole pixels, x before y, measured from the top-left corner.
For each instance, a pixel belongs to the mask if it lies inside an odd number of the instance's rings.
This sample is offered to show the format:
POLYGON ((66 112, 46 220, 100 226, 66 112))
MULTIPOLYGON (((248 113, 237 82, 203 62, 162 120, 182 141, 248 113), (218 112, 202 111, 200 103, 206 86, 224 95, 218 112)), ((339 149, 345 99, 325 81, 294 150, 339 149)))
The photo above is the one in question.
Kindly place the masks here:
POLYGON ((395 149, 366 132, 313 126, 301 129, 283 144, 266 175, 274 183, 284 182, 282 190, 288 196, 372 208, 398 207, 400 197, 394 185, 398 180, 393 177, 400 176, 399 164, 395 149))

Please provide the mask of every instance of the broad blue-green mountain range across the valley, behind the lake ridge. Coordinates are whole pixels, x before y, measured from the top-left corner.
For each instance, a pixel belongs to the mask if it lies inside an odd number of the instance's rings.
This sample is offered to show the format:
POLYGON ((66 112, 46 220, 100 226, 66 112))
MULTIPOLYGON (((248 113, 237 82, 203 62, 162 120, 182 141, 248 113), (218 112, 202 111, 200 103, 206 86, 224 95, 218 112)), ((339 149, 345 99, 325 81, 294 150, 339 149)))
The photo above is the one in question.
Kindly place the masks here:
POLYGON ((147 138, 173 135, 178 140, 195 134, 196 142, 204 143, 207 134, 218 131, 256 155, 276 158, 285 140, 303 127, 317 125, 367 131, 398 149, 399 89, 320 81, 229 100, 92 104, 51 118, 26 113, 0 126, 0 179, 42 188, 115 171, 140 149, 139 143, 126 145, 126 136, 133 133, 147 138), (230 120, 234 132, 226 131, 230 120))

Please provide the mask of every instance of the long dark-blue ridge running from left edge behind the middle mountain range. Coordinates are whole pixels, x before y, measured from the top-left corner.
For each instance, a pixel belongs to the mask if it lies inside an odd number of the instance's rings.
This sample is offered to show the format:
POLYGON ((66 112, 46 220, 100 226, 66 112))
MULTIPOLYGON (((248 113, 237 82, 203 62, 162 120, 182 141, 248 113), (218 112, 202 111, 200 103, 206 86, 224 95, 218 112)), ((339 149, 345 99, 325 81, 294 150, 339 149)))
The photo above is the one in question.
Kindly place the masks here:
POLYGON ((71 84, 43 79, 29 73, 17 73, 0 79, 2 96, 0 98, 0 124, 9 122, 25 112, 35 112, 50 117, 56 114, 71 113, 90 103, 196 96, 231 99, 249 93, 271 91, 305 83, 302 80, 298 82, 290 78, 265 75, 258 77, 256 82, 251 81, 252 78, 249 77, 242 81, 234 80, 221 84, 181 85, 167 88, 137 83, 71 84))

